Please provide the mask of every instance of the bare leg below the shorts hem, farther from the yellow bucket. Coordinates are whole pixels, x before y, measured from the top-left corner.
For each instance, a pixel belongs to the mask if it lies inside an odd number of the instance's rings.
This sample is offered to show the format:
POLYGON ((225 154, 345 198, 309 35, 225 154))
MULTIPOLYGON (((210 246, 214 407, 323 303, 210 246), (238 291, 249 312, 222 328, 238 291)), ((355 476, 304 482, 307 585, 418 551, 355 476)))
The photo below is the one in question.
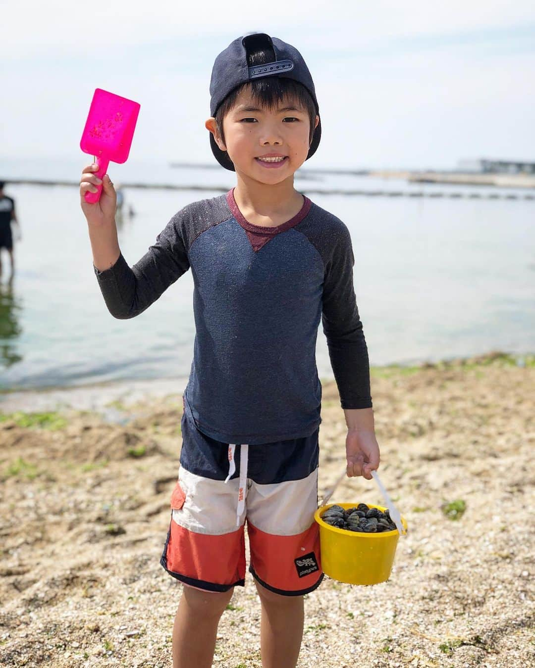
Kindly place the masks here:
POLYGON ((217 626, 233 591, 184 586, 173 627, 173 668, 211 668, 217 626))

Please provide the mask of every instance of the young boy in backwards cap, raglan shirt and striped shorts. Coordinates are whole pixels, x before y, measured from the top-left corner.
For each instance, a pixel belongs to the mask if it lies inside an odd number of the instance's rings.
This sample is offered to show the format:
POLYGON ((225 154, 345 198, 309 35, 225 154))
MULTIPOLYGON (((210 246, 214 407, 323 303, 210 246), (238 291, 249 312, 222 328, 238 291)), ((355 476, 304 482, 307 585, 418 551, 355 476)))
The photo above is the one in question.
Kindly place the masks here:
POLYGON ((160 564, 185 585, 174 668, 210 667, 221 614, 245 583, 244 526, 261 600, 261 656, 294 668, 304 594, 320 585, 318 432, 322 320, 348 434, 347 475, 379 466, 368 353, 346 225, 294 189, 320 117, 299 51, 265 33, 235 39, 213 65, 215 158, 236 173, 224 195, 180 210, 132 268, 118 246, 114 188, 88 167, 80 195, 94 271, 116 318, 142 313, 190 267, 196 337, 183 393, 183 445, 160 564))

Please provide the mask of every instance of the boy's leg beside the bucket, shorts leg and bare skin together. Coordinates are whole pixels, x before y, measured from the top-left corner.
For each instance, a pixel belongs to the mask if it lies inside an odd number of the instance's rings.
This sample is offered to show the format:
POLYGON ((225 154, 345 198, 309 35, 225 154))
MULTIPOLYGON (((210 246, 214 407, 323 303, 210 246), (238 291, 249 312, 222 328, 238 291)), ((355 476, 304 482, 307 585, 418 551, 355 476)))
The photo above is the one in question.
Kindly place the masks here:
POLYGON ((319 429, 311 436, 249 446, 249 572, 261 607, 263 668, 295 668, 306 593, 322 581, 318 508, 319 429))

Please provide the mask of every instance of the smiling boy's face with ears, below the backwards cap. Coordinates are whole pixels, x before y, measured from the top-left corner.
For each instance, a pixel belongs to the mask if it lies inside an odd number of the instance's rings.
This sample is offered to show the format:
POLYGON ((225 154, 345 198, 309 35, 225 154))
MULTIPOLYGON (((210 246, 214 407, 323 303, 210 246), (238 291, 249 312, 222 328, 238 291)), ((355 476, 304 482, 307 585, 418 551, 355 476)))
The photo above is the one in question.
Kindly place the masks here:
MULTIPOLYGON (((249 91, 249 85, 243 87, 235 106, 223 118, 225 142, 217 134, 213 117, 205 127, 213 132, 219 148, 227 151, 237 173, 265 184, 280 183, 306 160, 310 148, 308 113, 294 100, 282 100, 278 109, 259 108, 249 91), (280 154, 284 160, 276 167, 259 160, 269 154, 280 154)), ((314 128, 318 122, 316 116, 314 128)))

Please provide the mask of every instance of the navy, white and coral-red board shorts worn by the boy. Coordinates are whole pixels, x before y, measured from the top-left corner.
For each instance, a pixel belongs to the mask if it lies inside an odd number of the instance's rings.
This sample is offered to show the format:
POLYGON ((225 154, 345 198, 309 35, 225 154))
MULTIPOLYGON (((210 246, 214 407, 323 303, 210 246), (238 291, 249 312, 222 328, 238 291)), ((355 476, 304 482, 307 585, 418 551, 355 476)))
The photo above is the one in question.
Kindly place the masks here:
POLYGON ((203 434, 183 395, 182 451, 160 564, 209 592, 245 586, 249 572, 270 591, 300 596, 324 577, 318 508, 319 427, 312 436, 261 445, 203 434))

